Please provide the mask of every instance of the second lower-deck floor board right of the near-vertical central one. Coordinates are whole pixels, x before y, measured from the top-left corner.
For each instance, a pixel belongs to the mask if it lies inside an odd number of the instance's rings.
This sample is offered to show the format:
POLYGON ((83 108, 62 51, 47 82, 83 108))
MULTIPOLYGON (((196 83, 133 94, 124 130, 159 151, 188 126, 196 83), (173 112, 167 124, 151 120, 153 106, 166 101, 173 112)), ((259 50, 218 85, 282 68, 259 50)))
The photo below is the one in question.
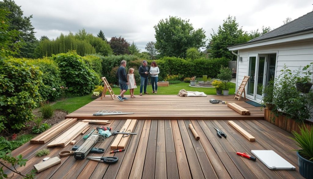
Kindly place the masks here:
POLYGON ((171 120, 171 125, 173 131, 173 139, 175 144, 179 177, 182 179, 191 179, 192 177, 190 174, 190 170, 186 170, 187 168, 189 168, 189 166, 177 120, 171 120))

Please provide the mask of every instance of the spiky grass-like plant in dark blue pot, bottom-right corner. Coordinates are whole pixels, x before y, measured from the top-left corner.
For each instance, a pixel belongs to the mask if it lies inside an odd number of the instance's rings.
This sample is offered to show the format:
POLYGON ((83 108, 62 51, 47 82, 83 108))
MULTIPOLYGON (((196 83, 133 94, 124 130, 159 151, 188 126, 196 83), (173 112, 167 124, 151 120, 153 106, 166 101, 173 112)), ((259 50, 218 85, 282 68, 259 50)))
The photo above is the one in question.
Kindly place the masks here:
POLYGON ((294 138, 300 148, 297 151, 299 173, 306 179, 313 179, 313 129, 300 128, 300 134, 293 131, 294 138))

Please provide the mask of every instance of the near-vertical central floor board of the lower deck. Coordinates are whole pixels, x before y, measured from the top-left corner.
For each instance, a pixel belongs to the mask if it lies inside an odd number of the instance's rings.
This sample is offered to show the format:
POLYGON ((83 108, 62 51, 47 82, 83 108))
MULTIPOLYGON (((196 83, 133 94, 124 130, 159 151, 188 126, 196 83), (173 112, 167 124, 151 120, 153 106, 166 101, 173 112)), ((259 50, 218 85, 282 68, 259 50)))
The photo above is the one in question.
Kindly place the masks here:
POLYGON ((156 140, 155 179, 166 179, 166 147, 165 147, 165 124, 164 120, 158 120, 156 140))

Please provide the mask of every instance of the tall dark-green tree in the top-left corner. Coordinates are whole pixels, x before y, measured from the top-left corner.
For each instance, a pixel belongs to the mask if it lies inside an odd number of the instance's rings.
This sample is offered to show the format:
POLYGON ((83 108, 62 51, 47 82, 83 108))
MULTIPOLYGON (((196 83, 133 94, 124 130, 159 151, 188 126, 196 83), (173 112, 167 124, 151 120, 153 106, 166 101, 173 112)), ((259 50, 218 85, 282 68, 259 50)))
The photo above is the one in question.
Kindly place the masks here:
POLYGON ((23 17, 23 11, 21 6, 15 4, 13 0, 3 0, 0 1, 0 9, 8 11, 7 14, 9 29, 17 30, 21 33, 19 34, 19 40, 23 40, 25 43, 20 48, 20 53, 16 56, 33 58, 33 52, 38 44, 38 40, 35 38, 34 27, 30 22, 33 15, 29 17, 23 17))

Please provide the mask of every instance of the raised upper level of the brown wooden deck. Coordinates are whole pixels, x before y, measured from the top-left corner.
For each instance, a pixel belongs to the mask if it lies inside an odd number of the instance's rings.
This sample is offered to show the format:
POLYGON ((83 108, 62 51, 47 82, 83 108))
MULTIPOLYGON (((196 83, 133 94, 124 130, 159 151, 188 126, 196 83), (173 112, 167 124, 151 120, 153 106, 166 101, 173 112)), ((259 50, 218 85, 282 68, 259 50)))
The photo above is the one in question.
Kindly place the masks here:
MULTIPOLYGON (((126 95, 126 97, 129 97, 126 95)), ((79 108, 65 118, 78 119, 264 119, 264 111, 244 100, 234 100, 234 95, 207 97, 179 97, 177 95, 143 95, 130 98, 123 102, 111 97, 96 99, 79 108), (250 111, 251 115, 240 115, 227 107, 227 104, 212 104, 211 98, 237 103, 250 111), (115 110, 129 115, 93 116, 99 110, 115 110)))

